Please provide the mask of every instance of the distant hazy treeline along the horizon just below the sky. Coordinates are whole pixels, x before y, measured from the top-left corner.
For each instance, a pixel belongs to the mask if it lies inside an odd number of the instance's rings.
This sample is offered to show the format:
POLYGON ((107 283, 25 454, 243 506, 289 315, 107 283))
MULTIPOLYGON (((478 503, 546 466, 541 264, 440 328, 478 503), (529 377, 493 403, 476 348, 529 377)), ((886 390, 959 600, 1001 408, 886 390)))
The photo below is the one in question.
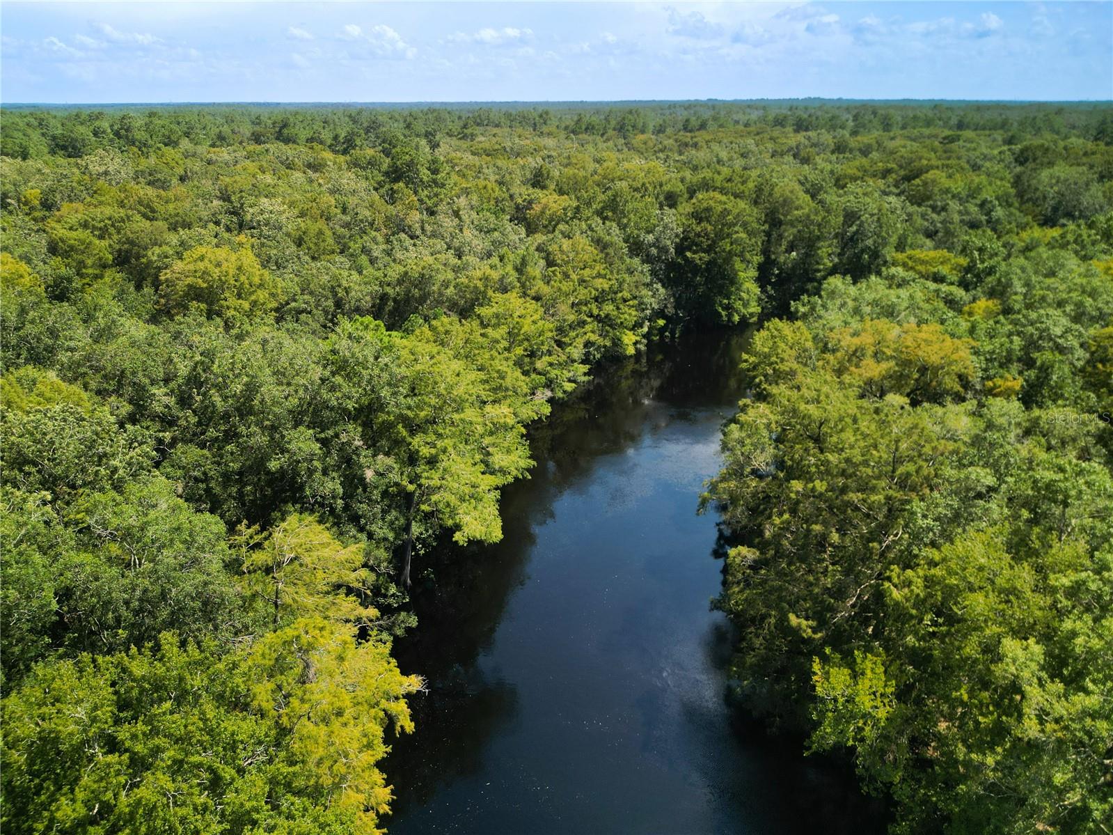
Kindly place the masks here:
POLYGON ((404 105, 33 105, 2 111, 0 153, 29 159, 85 156, 98 148, 188 141, 228 146, 315 144, 337 154, 373 147, 385 130, 466 138, 482 128, 520 128, 629 138, 728 127, 845 131, 850 136, 923 128, 1006 131, 1011 141, 1050 134, 1113 143, 1109 102, 830 101, 515 102, 404 105))

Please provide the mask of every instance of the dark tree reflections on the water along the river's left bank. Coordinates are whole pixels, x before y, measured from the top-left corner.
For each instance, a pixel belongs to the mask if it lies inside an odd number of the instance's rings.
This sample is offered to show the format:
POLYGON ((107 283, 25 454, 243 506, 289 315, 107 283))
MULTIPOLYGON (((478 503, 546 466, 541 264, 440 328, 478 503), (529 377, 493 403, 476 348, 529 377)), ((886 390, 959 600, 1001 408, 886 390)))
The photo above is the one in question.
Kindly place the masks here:
POLYGON ((404 671, 426 678, 427 692, 411 699, 415 734, 394 740, 384 764, 397 794, 395 815, 477 770, 487 740, 514 717, 514 686, 489 680, 477 659, 524 581, 534 530, 552 518, 558 497, 600 455, 636 443, 653 401, 682 407, 737 396, 743 340, 741 333, 689 336, 602 369, 531 428, 536 465, 503 491, 503 540, 464 548, 445 541, 423 556, 413 590, 418 626, 396 641, 395 655, 404 671))

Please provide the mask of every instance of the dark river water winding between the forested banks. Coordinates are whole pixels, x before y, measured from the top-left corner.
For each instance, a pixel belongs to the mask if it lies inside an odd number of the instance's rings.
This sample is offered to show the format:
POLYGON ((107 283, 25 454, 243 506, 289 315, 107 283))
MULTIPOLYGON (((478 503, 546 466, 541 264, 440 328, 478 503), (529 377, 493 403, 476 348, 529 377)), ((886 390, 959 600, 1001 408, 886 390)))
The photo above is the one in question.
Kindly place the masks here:
POLYGON ((504 539, 424 557, 400 641, 417 731, 394 743, 406 833, 873 833, 845 768, 804 757, 727 699, 719 430, 742 334, 608 369, 532 432, 504 539))

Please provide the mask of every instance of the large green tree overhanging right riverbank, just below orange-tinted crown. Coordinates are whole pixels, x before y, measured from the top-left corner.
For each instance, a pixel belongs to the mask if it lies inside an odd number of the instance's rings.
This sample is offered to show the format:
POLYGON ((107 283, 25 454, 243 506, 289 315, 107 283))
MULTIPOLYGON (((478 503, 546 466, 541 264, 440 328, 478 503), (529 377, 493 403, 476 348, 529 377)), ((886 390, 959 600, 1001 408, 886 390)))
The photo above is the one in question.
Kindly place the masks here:
POLYGON ((780 710, 814 655, 879 622, 886 572, 906 558, 917 500, 944 483, 955 441, 903 396, 863 399, 829 372, 797 369, 764 390, 726 430, 705 501, 747 543, 727 554, 718 602, 741 627, 735 672, 780 710))

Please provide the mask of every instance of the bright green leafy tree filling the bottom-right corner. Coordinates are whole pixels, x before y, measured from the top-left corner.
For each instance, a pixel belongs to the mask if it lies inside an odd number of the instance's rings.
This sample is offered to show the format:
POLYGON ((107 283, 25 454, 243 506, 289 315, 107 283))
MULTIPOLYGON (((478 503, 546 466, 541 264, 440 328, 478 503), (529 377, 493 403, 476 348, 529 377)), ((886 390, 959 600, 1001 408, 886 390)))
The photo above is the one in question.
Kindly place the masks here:
POLYGON ((884 655, 816 660, 812 743, 854 748, 898 831, 1101 832, 1113 812, 1111 554, 1012 539, 930 552, 890 588, 884 655))

